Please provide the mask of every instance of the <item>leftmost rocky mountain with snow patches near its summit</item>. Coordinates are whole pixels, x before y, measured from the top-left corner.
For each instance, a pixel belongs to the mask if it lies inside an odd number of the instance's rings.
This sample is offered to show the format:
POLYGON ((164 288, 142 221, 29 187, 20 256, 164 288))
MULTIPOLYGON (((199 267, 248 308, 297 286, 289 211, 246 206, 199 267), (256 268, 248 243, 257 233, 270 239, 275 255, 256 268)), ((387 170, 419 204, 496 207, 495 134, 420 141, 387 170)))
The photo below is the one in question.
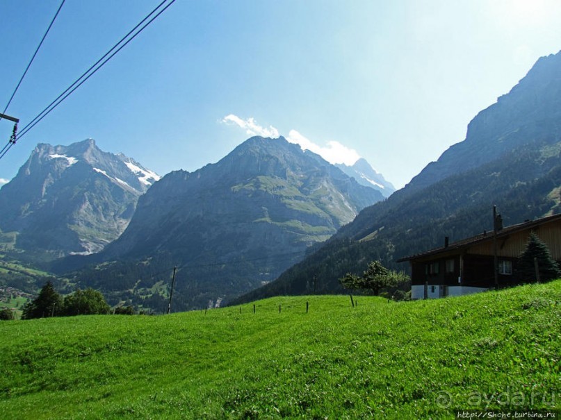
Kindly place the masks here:
MULTIPOLYGON (((33 258, 101 251, 127 227, 138 197, 159 179, 94 140, 38 144, 17 176, 0 190, 4 236, 33 258)), ((19 253, 18 255, 21 255, 19 253)))

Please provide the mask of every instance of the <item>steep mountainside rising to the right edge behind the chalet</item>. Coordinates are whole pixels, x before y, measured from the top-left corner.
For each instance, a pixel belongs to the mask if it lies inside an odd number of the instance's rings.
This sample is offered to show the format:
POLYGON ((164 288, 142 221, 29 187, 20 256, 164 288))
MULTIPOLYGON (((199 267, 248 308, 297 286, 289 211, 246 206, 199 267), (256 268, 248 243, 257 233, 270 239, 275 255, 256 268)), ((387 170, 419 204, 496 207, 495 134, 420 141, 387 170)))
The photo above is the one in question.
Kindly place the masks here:
POLYGON ((371 260, 396 260, 493 229, 561 211, 561 51, 540 58, 512 90, 469 123, 402 190, 360 212, 323 246, 277 280, 235 301, 277 294, 342 292, 338 279, 371 260))

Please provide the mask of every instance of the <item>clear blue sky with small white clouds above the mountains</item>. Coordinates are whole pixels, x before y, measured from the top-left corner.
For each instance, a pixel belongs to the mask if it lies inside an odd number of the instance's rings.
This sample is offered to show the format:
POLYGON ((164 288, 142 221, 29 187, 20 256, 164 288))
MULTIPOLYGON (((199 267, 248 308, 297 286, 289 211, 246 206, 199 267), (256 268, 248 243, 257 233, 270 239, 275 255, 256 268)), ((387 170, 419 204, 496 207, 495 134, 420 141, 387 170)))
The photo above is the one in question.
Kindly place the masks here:
MULTIPOLYGON (((160 1, 66 0, 6 114, 23 128, 160 1)), ((0 112, 60 2, 0 0, 0 112)), ((93 138, 165 175, 282 135, 400 188, 561 50, 559 22, 558 0, 176 0, 10 149, 0 183, 38 143, 93 138)))

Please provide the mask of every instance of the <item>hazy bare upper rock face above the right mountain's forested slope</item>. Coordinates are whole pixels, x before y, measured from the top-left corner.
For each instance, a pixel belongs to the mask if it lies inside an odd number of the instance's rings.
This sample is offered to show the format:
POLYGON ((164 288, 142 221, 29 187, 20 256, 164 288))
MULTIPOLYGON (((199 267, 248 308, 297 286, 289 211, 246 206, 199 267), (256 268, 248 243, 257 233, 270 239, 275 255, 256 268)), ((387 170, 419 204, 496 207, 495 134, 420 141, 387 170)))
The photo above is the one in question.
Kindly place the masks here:
POLYGON ((561 51, 539 58, 508 94, 471 120, 463 142, 450 146, 408 187, 419 190, 496 160, 517 146, 551 142, 560 136, 561 51))

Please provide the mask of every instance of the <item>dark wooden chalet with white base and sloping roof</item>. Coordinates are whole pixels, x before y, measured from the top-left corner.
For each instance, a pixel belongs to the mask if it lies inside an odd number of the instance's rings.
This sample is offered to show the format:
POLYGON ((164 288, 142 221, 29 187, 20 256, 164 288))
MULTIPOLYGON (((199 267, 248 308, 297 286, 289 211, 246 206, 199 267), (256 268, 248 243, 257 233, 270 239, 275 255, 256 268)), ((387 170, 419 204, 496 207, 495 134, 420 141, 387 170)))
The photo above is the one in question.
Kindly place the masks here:
POLYGON ((412 299, 459 296, 521 283, 524 279, 517 278, 517 260, 532 232, 561 262, 561 215, 507 228, 499 224, 496 233, 484 232, 453 244, 446 238, 441 248, 398 260, 411 264, 412 299))

